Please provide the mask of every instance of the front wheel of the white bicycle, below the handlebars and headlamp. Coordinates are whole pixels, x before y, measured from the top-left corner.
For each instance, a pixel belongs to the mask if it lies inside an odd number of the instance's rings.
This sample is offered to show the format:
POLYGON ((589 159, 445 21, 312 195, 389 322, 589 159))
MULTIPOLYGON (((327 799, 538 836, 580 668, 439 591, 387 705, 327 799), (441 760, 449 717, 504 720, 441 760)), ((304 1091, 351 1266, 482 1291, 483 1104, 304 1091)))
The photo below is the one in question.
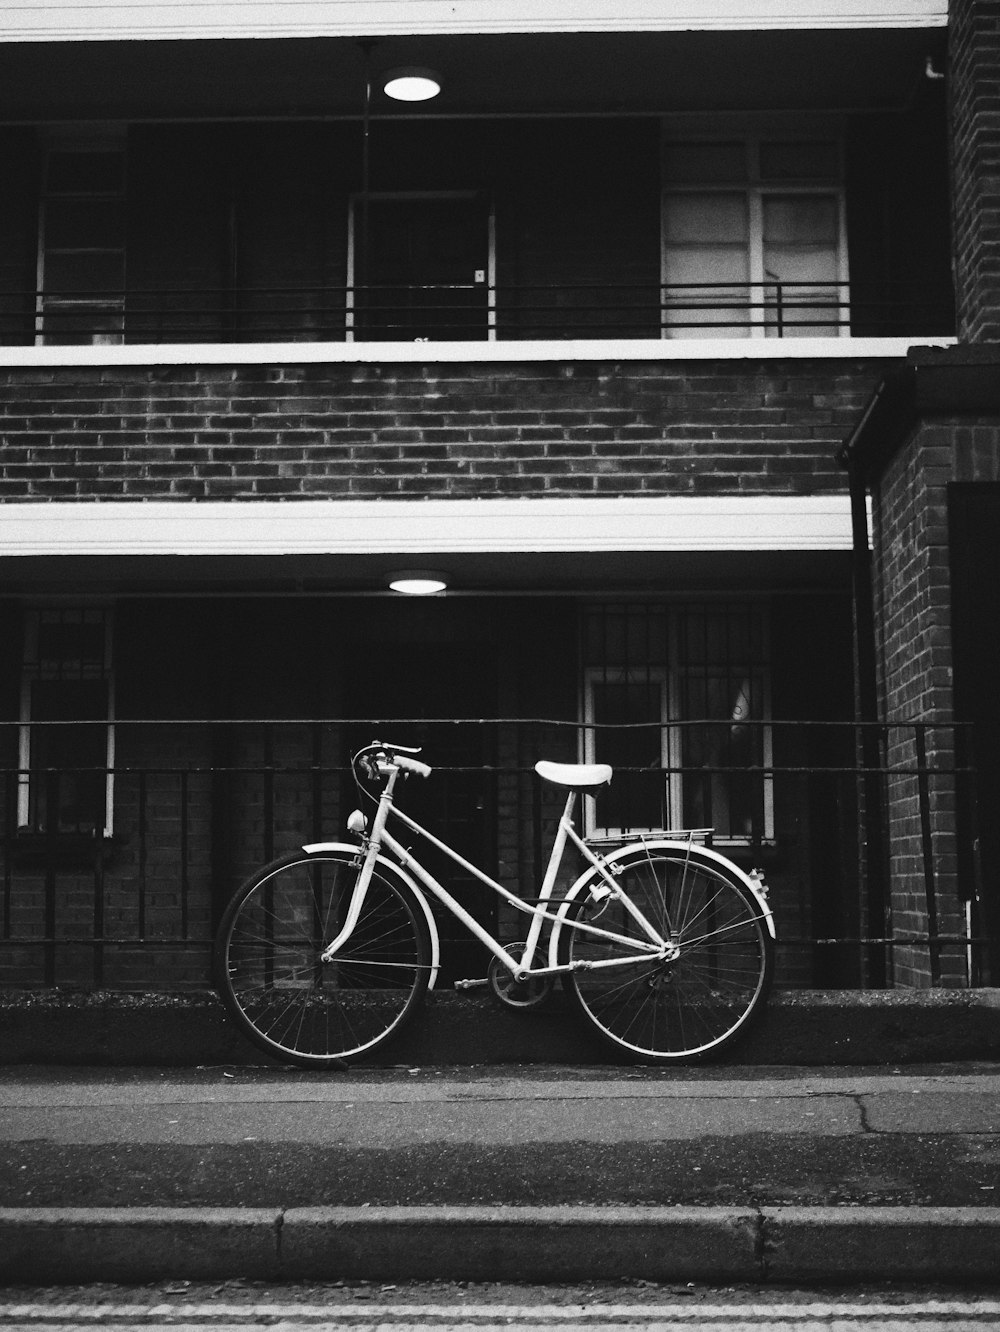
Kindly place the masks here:
POLYGON ((427 988, 430 940, 411 890, 377 867, 358 923, 333 962, 360 862, 300 851, 266 866, 229 903, 216 983, 237 1026, 268 1054, 336 1068, 394 1036, 427 988))

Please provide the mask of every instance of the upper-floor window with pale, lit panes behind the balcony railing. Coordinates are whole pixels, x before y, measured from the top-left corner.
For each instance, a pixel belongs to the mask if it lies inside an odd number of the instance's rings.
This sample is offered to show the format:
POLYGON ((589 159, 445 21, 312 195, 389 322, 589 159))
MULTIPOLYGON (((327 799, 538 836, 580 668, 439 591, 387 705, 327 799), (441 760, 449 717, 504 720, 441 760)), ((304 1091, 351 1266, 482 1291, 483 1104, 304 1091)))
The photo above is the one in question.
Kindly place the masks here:
POLYGON ((848 332, 836 140, 670 141, 663 177, 666 337, 848 332))

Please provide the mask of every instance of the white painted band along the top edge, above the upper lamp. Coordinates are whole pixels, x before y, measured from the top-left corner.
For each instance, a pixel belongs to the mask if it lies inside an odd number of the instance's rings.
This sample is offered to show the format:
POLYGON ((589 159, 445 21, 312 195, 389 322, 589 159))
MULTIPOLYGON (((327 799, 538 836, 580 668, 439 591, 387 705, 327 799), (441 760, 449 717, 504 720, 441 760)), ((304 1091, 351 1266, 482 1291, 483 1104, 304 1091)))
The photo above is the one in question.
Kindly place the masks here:
POLYGON ((945 0, 11 0, 0 41, 940 28, 945 0))

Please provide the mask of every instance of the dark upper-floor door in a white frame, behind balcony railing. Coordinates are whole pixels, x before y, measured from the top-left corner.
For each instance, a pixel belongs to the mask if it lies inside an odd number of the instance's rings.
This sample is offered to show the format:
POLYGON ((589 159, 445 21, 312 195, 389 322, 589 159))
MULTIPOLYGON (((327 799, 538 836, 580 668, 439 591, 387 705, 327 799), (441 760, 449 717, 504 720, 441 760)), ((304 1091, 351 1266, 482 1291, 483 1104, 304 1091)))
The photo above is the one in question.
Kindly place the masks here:
POLYGON ((486 338, 486 201, 465 194, 357 201, 354 274, 358 337, 486 338))

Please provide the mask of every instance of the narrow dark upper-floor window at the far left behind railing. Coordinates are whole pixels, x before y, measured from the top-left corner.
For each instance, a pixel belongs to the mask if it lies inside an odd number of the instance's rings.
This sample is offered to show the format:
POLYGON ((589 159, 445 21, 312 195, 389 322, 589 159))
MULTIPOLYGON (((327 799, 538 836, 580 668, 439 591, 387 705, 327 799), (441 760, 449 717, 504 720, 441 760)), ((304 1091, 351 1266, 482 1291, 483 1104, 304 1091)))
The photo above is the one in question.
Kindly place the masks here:
POLYGON ((39 218, 39 342, 121 342, 125 152, 116 140, 55 139, 39 218))

